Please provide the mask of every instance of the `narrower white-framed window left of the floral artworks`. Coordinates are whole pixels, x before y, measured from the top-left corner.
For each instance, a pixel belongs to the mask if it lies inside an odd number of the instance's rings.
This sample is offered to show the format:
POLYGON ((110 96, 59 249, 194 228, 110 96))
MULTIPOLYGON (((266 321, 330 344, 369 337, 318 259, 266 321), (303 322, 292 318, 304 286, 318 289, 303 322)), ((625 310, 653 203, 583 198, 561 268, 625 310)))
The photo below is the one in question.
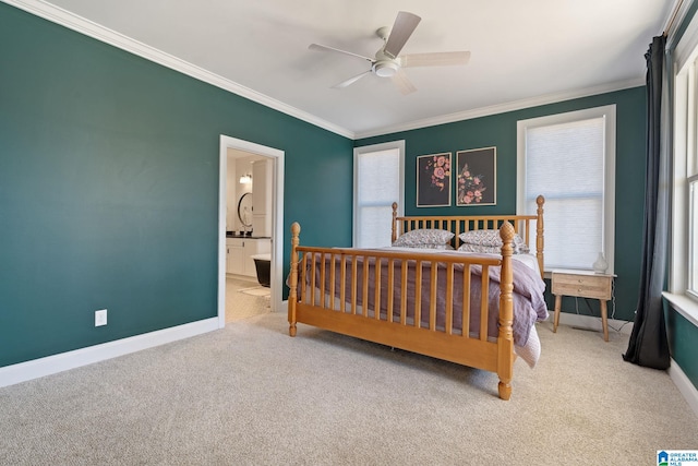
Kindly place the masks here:
POLYGON ((405 141, 353 152, 353 246, 390 246, 393 203, 402 212, 405 141))

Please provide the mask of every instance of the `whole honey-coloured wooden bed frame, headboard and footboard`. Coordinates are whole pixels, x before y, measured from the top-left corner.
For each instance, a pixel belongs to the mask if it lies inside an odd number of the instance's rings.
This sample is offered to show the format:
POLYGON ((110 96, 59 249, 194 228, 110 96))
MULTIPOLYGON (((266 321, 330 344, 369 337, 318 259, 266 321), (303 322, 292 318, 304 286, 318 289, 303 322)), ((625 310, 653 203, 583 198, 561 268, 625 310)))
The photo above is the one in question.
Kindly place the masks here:
MULTIPOLYGON (((519 234, 521 238, 531 246, 529 227, 531 222, 535 222, 535 256, 538 259, 541 276, 543 274, 543 196, 538 196, 537 215, 497 215, 497 216, 412 216, 398 217, 396 204, 393 206, 393 240, 400 234, 418 228, 448 229, 455 234, 456 248, 458 247, 458 236, 462 231, 477 229, 500 229, 503 240, 502 256, 484 256, 472 254, 445 254, 445 253, 424 253, 410 251, 389 251, 387 249, 353 249, 353 248, 313 248, 299 246, 300 225, 294 223, 291 226, 291 271, 289 275, 289 297, 288 297, 288 321, 289 334, 296 336, 297 323, 304 323, 340 334, 366 339, 370 342, 405 349, 408 351, 444 359, 447 361, 473 367, 482 370, 496 372, 498 382, 498 394, 502 399, 509 399, 512 396, 512 379, 514 372, 514 361, 516 354, 514 353, 514 336, 512 323, 514 319, 514 300, 513 300, 513 280, 514 274, 512 268, 513 240, 515 234, 519 234), (316 265, 315 259, 321 259, 316 265), (311 261, 311 262, 309 262, 311 261), (361 273, 361 266, 357 270, 357 262, 362 262, 364 266, 372 261, 378 272, 375 278, 375 300, 380 302, 382 295, 387 295, 387 314, 393 315, 394 306, 401 303, 401 315, 399 321, 393 318, 385 319, 380 311, 374 312, 369 306, 362 307, 357 303, 357 296, 369 296, 370 274, 366 268, 361 273), (408 262, 409 261, 409 262, 408 262), (325 266, 338 264, 338 266, 325 266), (396 303, 393 292, 381 290, 381 267, 387 267, 387 286, 384 288, 393 288, 398 284, 399 289, 407 288, 407 271, 409 266, 400 266, 404 273, 393 273, 396 264, 409 263, 416 267, 417 283, 421 283, 422 266, 426 265, 431 271, 430 287, 430 309, 429 325, 424 325, 421 321, 421 287, 414 289, 416 316, 409 319, 405 315, 407 296, 405 292, 399 297, 400 302, 396 303), (436 270, 437 264, 442 267, 445 264, 447 279, 446 286, 446 325, 443 328, 436 326, 435 308, 436 308, 436 270), (454 331, 450 322, 453 318, 453 296, 454 286, 462 286, 464 290, 464 315, 462 322, 469 322, 470 314, 469 303, 465 298, 470 295, 470 274, 462 273, 462 283, 454 283, 454 267, 456 264, 462 266, 481 266, 482 267, 482 301, 480 315, 479 335, 472 337, 469 332, 454 331), (433 266, 432 266, 433 265, 433 266), (500 307, 498 307, 498 337, 496 340, 488 338, 488 299, 489 299, 489 267, 501 266, 500 279, 500 307), (339 272, 336 270, 339 268, 339 272), (358 279, 358 272, 361 279, 358 279), (466 278, 468 277, 468 278, 466 278), (323 289, 322 298, 316 297, 316 292, 309 292, 309 283, 339 283, 339 288, 323 289), (337 282, 336 282, 337 280, 337 282), (299 286, 303 284, 302 286, 299 286), (346 285, 345 285, 346 284, 346 285), (337 291, 339 289, 339 291, 337 291), (345 291, 348 289, 349 291, 345 291), (359 290, 359 292, 357 292, 359 290), (334 299, 325 299, 326 296, 333 295, 334 299), (339 296, 337 296, 339 295, 339 296)), ((532 250, 532 249, 531 249, 532 250)), ((425 274, 429 275, 429 274, 425 274)), ((425 277, 424 277, 425 279, 425 277)), ((429 289, 429 288, 428 288, 429 289)), ((320 291, 317 291, 320 292, 320 291)), ((371 296, 371 298, 373 298, 371 296)), ((385 297, 383 297, 385 301, 385 297)), ((465 325, 464 325, 465 326, 465 325)))

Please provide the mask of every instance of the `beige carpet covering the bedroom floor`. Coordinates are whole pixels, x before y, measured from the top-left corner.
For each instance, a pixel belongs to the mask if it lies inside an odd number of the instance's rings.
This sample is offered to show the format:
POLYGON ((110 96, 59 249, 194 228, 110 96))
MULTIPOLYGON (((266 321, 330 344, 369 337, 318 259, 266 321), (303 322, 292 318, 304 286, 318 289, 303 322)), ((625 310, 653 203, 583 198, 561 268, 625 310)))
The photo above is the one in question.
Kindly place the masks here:
POLYGON ((2 465, 655 465, 698 418, 627 336, 539 326, 496 377, 265 313, 0 389, 2 465))

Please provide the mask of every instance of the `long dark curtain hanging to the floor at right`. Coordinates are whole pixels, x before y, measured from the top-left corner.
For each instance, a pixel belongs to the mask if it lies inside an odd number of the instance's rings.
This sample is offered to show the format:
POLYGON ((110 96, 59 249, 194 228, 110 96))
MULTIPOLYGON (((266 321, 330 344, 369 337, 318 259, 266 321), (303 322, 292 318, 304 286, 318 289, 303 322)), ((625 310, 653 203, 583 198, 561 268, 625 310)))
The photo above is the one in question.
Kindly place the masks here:
POLYGON ((665 148, 669 122, 667 99, 662 101, 662 93, 666 87, 663 82, 666 77, 663 75, 664 45, 664 36, 654 37, 645 55, 647 59, 647 176, 642 267, 635 324, 627 353, 623 355, 626 361, 654 369, 666 369, 670 365, 662 303, 669 229, 669 151, 665 148))

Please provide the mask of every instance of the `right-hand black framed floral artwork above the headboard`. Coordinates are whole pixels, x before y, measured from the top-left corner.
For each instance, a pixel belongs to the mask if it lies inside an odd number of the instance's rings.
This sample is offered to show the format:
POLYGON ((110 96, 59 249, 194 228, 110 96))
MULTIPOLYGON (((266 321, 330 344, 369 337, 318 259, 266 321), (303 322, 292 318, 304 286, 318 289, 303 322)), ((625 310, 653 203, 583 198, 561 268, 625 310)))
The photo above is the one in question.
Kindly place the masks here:
POLYGON ((497 203, 497 148, 458 151, 456 205, 495 205, 497 203))

